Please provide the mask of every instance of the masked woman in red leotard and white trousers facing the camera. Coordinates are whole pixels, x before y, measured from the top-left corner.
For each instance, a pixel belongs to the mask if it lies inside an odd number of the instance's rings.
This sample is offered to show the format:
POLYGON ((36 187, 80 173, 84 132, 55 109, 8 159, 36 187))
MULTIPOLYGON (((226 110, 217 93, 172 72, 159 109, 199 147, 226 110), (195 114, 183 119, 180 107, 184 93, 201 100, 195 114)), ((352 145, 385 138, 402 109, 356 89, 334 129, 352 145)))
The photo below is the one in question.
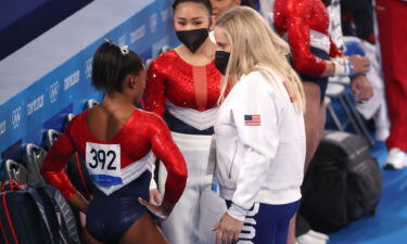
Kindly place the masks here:
MULTIPOLYGON (((208 39, 212 8, 208 0, 176 0, 173 8, 182 44, 152 62, 143 100, 148 111, 168 124, 189 175, 186 191, 162 230, 170 243, 214 244, 211 228, 226 206, 212 192, 213 170, 208 167, 221 79, 214 62, 216 46, 208 39)), ((160 190, 165 177, 160 167, 160 190)))

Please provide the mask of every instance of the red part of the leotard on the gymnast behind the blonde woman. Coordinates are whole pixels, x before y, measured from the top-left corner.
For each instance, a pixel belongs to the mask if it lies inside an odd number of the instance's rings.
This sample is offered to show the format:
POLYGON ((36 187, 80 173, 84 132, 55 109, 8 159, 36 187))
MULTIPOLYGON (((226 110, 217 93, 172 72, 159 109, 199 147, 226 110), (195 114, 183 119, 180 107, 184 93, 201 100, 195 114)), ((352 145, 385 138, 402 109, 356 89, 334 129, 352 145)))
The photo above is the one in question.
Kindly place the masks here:
MULTIPOLYGON (((288 35, 295 69, 305 75, 321 76, 327 63, 310 52, 309 30, 329 36, 329 15, 325 4, 320 0, 276 0, 274 18, 279 35, 288 35)), ((330 56, 342 56, 339 48, 330 41, 330 56)))

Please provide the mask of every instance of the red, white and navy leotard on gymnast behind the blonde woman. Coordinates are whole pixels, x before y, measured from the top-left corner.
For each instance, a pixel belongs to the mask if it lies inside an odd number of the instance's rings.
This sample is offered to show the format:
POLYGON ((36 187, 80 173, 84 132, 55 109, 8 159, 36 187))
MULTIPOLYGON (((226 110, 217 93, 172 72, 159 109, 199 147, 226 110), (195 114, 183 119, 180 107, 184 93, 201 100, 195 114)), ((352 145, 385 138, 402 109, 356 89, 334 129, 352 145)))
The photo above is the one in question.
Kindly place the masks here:
POLYGON ((330 38, 329 15, 321 0, 276 0, 272 23, 287 36, 294 68, 304 81, 316 82, 323 98, 328 78, 321 78, 329 57, 343 56, 330 38))

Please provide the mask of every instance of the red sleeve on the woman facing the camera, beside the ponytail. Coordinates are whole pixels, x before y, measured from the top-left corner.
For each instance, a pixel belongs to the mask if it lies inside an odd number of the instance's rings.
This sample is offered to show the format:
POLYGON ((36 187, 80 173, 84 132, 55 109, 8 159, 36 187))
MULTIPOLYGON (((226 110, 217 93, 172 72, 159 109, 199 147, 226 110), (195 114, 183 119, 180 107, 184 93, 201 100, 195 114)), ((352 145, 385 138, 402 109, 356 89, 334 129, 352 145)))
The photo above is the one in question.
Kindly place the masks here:
POLYGON ((151 63, 147 73, 143 108, 163 117, 165 110, 165 77, 157 67, 157 59, 151 63))

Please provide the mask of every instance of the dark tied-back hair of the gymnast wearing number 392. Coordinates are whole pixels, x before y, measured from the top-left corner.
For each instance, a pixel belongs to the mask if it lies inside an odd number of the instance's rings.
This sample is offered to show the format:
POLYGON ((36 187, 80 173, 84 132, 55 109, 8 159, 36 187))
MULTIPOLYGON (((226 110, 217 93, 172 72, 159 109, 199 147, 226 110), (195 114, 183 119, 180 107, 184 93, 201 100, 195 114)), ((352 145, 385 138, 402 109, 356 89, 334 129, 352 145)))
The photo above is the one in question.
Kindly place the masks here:
POLYGON ((129 74, 138 75, 143 61, 133 51, 124 54, 118 46, 106 41, 99 46, 92 62, 92 86, 103 92, 122 92, 123 81, 129 74))

